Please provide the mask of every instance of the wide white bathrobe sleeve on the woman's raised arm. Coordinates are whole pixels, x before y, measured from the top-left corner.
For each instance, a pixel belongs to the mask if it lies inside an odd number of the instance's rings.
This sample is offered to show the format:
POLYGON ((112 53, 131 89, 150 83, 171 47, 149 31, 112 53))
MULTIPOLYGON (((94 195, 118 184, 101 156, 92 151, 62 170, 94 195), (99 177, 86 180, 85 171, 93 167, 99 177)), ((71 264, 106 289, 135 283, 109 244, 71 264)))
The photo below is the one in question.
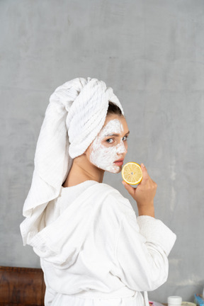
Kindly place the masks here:
POLYGON ((132 290, 151 291, 166 282, 169 270, 167 256, 176 235, 154 217, 135 212, 123 217, 115 248, 120 267, 118 276, 132 290))

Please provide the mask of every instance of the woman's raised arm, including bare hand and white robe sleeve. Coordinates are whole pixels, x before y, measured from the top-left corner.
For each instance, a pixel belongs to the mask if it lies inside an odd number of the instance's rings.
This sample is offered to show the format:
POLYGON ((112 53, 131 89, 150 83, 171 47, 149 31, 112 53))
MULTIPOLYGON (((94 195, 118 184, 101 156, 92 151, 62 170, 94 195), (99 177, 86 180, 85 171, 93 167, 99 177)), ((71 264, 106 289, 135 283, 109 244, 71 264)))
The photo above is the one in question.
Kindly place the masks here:
POLYGON ((152 181, 144 164, 143 179, 137 188, 123 181, 137 202, 139 217, 126 215, 120 227, 117 245, 118 276, 135 290, 154 290, 168 276, 167 256, 174 246, 176 235, 160 220, 154 219, 154 196, 157 183, 152 181))

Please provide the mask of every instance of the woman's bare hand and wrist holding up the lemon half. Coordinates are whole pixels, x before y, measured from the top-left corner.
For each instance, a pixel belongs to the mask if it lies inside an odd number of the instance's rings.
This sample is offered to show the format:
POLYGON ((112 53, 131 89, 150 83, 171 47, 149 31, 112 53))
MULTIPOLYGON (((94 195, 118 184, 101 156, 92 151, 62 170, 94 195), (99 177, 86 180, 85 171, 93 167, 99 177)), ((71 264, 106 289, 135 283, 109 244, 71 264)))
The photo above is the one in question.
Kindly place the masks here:
POLYGON ((143 178, 137 188, 133 188, 125 181, 123 181, 123 185, 130 193, 130 196, 136 200, 139 215, 154 217, 154 196, 157 191, 157 183, 152 181, 144 164, 141 164, 141 168, 143 178))

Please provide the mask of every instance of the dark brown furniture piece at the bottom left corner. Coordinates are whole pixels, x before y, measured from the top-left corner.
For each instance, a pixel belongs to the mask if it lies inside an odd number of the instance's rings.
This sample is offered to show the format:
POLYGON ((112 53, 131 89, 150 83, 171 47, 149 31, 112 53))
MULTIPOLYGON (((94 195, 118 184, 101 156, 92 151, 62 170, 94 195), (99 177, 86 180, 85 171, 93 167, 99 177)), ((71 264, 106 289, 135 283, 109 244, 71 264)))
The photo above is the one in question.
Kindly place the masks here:
POLYGON ((0 266, 0 306, 44 306, 44 295, 42 269, 0 266))

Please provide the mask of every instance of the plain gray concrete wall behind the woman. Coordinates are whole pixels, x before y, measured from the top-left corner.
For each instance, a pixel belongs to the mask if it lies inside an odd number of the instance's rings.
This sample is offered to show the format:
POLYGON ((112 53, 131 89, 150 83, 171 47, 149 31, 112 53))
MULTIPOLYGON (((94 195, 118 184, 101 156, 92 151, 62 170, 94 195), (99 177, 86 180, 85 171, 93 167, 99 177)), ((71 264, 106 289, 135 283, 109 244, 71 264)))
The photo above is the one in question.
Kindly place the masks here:
MULTIPOLYGON (((178 237, 149 297, 193 300, 204 285, 204 1, 1 0, 0 29, 0 264, 40 266, 19 224, 45 109, 64 81, 96 77, 123 103, 126 161, 147 166, 157 217, 178 237)), ((129 197, 120 174, 106 182, 129 197)))

